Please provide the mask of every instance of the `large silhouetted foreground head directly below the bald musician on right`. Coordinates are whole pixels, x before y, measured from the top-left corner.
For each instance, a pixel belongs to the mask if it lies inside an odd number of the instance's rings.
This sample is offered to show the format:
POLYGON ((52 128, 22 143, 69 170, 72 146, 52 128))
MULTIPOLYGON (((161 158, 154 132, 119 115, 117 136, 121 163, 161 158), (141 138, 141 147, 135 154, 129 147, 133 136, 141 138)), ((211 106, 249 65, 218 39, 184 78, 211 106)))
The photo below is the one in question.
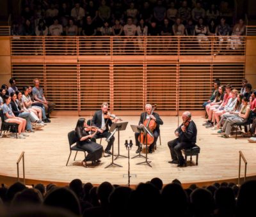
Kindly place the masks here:
POLYGON ((188 214, 188 195, 180 184, 172 183, 164 186, 161 197, 164 214, 170 212, 170 206, 172 206, 171 213, 173 216, 186 216, 188 214))

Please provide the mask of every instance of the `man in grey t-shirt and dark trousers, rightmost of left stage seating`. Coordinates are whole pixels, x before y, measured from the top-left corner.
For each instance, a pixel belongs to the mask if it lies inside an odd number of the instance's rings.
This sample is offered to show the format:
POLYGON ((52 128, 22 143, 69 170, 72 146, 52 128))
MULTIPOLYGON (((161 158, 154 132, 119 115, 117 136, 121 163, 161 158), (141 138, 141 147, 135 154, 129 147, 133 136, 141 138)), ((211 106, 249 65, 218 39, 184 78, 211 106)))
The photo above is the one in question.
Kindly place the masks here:
POLYGON ((33 96, 36 101, 43 103, 43 105, 45 107, 46 117, 49 118, 52 110, 54 110, 54 108, 55 108, 55 104, 52 103, 51 101, 45 99, 44 91, 43 91, 42 87, 39 86, 40 80, 34 79, 33 82, 35 85, 35 87, 33 87, 33 89, 32 89, 33 96))

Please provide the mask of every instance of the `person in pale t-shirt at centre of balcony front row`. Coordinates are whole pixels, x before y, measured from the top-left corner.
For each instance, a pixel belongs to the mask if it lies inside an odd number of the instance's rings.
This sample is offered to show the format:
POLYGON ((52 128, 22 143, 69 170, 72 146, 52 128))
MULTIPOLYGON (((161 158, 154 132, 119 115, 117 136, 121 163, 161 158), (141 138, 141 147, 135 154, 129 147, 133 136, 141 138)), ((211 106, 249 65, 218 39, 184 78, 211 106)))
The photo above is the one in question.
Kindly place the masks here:
MULTIPOLYGON (((133 24, 132 17, 127 18, 127 24, 124 26, 124 35, 129 36, 124 38, 124 48, 127 49, 127 43, 134 45, 134 36, 136 35, 137 27, 133 24)), ((129 52, 135 52, 134 48, 129 49, 129 52)))

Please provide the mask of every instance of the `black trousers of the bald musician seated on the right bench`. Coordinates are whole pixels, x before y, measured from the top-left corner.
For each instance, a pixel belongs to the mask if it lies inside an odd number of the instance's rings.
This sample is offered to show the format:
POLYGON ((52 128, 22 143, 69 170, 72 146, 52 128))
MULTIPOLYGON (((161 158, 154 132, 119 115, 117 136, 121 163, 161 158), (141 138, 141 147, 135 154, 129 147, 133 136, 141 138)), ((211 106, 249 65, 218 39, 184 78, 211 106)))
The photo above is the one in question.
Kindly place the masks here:
POLYGON ((179 138, 175 138, 168 142, 168 147, 172 156, 172 160, 178 160, 179 164, 184 164, 184 157, 181 150, 188 147, 193 147, 195 144, 189 142, 179 142, 179 138))

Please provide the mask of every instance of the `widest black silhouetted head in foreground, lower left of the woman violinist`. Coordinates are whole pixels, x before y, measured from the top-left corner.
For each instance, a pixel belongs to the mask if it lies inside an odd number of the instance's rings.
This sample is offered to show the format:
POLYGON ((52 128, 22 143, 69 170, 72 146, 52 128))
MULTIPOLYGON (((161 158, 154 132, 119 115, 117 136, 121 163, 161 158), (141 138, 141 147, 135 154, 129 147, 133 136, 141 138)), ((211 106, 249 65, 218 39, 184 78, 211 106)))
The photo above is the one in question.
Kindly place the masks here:
POLYGON ((81 214, 79 200, 76 194, 68 188, 55 188, 45 197, 44 204, 61 207, 77 215, 81 214))

